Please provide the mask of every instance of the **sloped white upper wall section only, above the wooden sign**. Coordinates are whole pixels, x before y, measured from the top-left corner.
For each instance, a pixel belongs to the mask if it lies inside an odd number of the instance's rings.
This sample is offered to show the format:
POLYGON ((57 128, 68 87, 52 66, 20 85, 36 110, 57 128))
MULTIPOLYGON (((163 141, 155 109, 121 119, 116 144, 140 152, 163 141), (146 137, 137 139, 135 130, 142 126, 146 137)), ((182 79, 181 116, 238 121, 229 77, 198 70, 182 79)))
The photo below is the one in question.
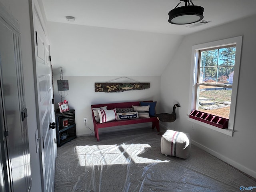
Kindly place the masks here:
POLYGON ((160 76, 184 37, 57 22, 48 31, 65 76, 160 76))

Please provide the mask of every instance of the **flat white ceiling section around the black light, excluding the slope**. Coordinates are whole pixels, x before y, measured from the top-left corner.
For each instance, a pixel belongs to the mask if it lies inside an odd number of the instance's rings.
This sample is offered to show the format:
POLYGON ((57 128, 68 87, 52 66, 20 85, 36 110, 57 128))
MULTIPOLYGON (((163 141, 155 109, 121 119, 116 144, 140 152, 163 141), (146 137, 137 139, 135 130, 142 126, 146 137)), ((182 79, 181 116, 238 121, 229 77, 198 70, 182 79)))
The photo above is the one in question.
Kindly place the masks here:
MULTIPOLYGON (((43 0, 46 18, 51 22, 68 23, 65 16, 74 16, 72 24, 115 29, 186 35, 256 14, 255 0, 193 0, 204 7, 204 20, 212 23, 199 28, 172 25, 168 12, 179 0, 43 0)), ((179 6, 184 6, 181 2, 179 6)))

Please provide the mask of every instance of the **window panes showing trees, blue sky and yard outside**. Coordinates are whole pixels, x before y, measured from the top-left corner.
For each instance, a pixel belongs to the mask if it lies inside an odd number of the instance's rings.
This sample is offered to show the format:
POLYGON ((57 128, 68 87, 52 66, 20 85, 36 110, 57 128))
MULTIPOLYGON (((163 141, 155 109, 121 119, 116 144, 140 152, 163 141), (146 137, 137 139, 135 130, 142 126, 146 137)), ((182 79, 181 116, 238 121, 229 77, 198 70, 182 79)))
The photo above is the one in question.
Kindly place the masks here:
POLYGON ((229 118, 236 46, 200 50, 197 110, 229 118))

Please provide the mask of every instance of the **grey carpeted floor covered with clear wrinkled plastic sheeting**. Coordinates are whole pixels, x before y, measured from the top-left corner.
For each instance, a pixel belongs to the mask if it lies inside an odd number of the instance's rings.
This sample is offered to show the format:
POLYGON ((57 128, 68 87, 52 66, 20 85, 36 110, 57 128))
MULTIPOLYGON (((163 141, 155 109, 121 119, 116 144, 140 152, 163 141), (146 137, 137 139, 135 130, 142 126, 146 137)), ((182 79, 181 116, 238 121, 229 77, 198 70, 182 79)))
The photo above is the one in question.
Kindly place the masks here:
POLYGON ((194 145, 185 160, 164 156, 160 140, 151 128, 76 138, 57 150, 55 192, 256 191, 254 178, 194 145))

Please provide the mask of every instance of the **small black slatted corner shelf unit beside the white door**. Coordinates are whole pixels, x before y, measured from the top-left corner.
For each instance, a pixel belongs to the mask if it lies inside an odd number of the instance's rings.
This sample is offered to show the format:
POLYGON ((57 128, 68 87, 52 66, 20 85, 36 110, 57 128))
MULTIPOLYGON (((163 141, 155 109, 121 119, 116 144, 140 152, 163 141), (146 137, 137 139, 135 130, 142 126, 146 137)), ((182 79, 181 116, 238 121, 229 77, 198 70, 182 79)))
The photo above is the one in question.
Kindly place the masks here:
POLYGON ((63 144, 73 140, 76 138, 76 120, 75 120, 75 110, 71 109, 68 112, 59 113, 56 112, 56 135, 58 146, 62 146, 63 144), (62 126, 62 119, 68 119, 68 126, 62 126), (61 139, 62 134, 66 133, 66 138, 61 139))

